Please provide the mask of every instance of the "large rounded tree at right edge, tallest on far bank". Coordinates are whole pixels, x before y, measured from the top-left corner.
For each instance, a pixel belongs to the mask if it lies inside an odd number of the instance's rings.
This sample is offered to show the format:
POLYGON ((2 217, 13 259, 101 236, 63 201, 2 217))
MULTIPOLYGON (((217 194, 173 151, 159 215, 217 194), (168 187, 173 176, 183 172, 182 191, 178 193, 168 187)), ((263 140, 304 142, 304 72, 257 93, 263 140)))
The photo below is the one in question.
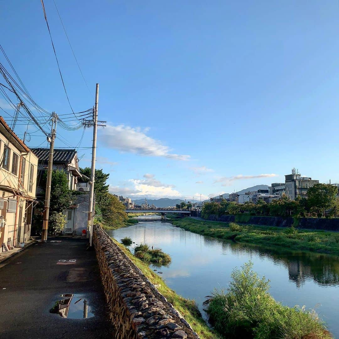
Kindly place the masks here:
POLYGON ((307 205, 310 209, 317 212, 318 217, 324 216, 325 211, 336 207, 337 194, 337 186, 316 184, 307 191, 307 205))

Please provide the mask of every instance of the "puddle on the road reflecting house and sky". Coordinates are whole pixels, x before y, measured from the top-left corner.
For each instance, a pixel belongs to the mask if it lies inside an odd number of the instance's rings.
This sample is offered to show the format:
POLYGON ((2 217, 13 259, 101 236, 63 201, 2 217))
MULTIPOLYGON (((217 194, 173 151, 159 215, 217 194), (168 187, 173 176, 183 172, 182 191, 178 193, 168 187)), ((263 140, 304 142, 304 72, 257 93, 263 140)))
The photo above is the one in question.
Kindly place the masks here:
POLYGON ((87 300, 79 294, 62 294, 62 300, 58 300, 49 310, 50 313, 59 314, 62 318, 84 319, 92 318, 91 306, 87 300))

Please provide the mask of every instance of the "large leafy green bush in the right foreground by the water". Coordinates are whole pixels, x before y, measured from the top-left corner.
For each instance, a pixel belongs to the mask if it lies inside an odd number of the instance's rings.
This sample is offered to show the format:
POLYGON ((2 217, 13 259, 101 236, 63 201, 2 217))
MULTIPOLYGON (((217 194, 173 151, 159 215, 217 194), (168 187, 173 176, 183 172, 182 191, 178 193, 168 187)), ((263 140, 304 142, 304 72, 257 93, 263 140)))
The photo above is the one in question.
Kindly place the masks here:
POLYGON ((206 300, 207 314, 226 338, 330 339, 314 311, 282 306, 268 294, 269 280, 245 263, 232 272, 226 293, 215 291, 206 300))

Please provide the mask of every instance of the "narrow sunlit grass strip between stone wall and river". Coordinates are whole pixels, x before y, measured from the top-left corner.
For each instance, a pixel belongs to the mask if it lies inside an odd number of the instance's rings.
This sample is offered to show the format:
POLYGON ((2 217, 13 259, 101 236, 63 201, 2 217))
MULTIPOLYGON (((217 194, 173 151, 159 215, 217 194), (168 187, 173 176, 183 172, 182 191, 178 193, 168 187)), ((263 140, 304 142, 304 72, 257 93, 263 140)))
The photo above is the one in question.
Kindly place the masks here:
POLYGON ((168 288, 164 281, 155 274, 147 263, 136 258, 128 249, 119 244, 115 239, 113 241, 122 249, 122 251, 140 268, 142 273, 158 288, 158 291, 170 302, 175 309, 192 326, 193 330, 198 333, 201 339, 218 339, 221 338, 202 319, 199 309, 194 300, 185 299, 177 295, 173 290, 168 288))

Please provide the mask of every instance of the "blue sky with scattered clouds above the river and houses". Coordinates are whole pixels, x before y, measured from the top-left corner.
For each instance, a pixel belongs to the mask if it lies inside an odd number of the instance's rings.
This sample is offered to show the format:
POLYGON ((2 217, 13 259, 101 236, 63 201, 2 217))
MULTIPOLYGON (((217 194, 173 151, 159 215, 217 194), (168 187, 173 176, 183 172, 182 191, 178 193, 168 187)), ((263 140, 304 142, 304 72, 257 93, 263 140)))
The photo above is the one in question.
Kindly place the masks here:
MULTIPOLYGON (((337 1, 55 1, 93 92, 45 0, 76 112, 93 106, 100 84, 107 128, 96 166, 113 193, 200 199, 283 182, 292 167, 339 181, 337 1)), ((0 1, 0 18, 1 44, 32 97, 69 113, 40 1, 0 1)), ((35 129, 27 144, 47 146, 35 129)), ((71 146, 81 137, 58 133, 71 146)), ((88 129, 81 147, 91 142, 88 129)), ((87 148, 79 155, 90 164, 87 148)))

